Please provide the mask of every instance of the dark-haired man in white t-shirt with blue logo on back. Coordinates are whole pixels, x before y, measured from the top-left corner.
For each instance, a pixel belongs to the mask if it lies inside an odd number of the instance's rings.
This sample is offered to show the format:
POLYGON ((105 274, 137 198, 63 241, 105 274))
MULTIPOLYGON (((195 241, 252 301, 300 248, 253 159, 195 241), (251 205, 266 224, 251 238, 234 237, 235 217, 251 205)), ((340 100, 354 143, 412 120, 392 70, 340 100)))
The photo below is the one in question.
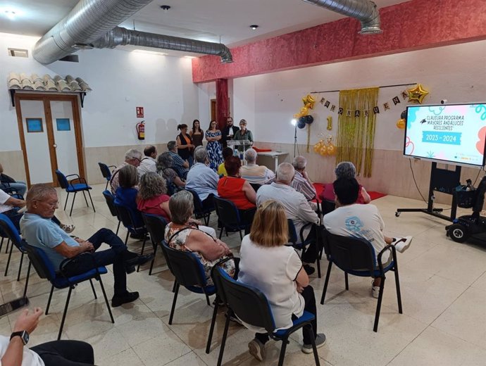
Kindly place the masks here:
MULTIPOLYGON (((355 178, 339 178, 332 184, 335 192, 336 209, 323 217, 323 225, 331 234, 356 236, 366 239, 375 248, 375 255, 388 244, 394 244, 397 251, 403 253, 409 248, 412 237, 393 239, 383 234, 385 222, 375 205, 356 203, 359 194, 359 183, 355 178)), ((390 252, 382 255, 383 267, 390 263, 390 252)), ((380 294, 380 278, 373 280, 372 294, 380 294)))

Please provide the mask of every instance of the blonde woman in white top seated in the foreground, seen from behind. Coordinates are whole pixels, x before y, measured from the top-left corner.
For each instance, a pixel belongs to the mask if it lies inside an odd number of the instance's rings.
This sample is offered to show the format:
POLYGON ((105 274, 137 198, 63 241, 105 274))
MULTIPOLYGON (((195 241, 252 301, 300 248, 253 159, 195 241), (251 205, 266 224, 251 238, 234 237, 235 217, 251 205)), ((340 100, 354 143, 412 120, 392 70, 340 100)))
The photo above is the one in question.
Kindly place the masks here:
MULTIPOLYGON (((268 200, 258 207, 251 233, 244 236, 240 248, 238 281, 259 289, 268 299, 276 329, 292 327, 292 320, 301 317, 304 310, 316 315, 316 298, 309 286, 309 277, 302 267, 299 255, 288 242, 288 226, 282 204, 268 200), (271 263, 271 265, 269 265, 271 263)), ((247 326, 256 332, 248 343, 249 352, 257 360, 265 358, 268 334, 247 326)), ((302 352, 312 353, 309 326, 304 327, 302 352)), ((312 322, 316 346, 323 346, 325 335, 317 334, 317 321, 312 322)))

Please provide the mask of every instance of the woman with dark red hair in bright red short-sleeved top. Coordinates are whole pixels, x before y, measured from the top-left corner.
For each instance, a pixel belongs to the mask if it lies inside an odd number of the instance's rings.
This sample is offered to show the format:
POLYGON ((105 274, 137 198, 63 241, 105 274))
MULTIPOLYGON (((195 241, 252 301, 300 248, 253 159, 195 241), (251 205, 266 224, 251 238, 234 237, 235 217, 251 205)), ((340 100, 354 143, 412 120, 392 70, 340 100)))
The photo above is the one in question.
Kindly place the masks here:
POLYGON ((225 169, 228 177, 219 179, 218 196, 235 203, 240 218, 247 224, 245 234, 248 234, 256 211, 256 193, 249 182, 239 175, 241 166, 242 162, 236 156, 226 158, 225 169))

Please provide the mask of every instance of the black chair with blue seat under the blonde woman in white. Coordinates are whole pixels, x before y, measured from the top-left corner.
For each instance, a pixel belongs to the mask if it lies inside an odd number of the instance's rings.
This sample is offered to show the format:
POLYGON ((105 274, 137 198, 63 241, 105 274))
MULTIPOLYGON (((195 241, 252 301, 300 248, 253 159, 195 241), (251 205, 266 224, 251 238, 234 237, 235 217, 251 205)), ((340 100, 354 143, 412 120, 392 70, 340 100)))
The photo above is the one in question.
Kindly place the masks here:
MULTIPOLYGON (((301 329, 307 324, 311 324, 315 319, 315 315, 304 311, 304 314, 297 320, 293 321, 293 325, 289 329, 281 329, 275 332, 275 322, 273 320, 272 310, 265 295, 258 289, 247 286, 232 279, 220 267, 216 267, 213 272, 216 286, 218 286, 218 296, 222 293, 222 300, 228 306, 226 314, 225 330, 223 332, 223 339, 221 340, 221 348, 218 357, 218 366, 223 360, 223 353, 225 351, 226 338, 228 336, 228 328, 230 326, 230 316, 236 315, 242 322, 251 324, 254 327, 261 327, 266 329, 268 336, 275 341, 282 341, 282 348, 280 348, 280 358, 278 359, 278 366, 282 366, 285 358, 285 350, 290 334, 298 329, 301 329)), ((314 360, 316 365, 320 365, 319 356, 316 348, 316 341, 311 332, 312 348, 314 353, 314 360)))

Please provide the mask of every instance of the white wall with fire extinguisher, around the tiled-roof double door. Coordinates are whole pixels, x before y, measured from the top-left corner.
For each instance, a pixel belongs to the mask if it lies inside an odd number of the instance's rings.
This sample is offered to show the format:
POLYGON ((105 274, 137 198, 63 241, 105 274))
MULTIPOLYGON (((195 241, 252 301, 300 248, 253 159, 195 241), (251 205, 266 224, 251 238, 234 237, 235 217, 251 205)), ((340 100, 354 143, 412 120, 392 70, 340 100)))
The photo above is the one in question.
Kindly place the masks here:
POLYGON ((35 37, 0 33, 0 151, 20 150, 15 108, 6 87, 8 72, 42 76, 82 77, 93 91, 82 108, 85 147, 139 144, 135 107, 143 106, 146 124, 144 144, 173 139, 180 122, 192 124, 199 117, 198 87, 192 83, 192 64, 187 58, 156 56, 119 49, 80 51, 79 63, 57 61, 41 65, 32 58, 35 37), (29 49, 29 58, 7 56, 7 47, 29 49))

